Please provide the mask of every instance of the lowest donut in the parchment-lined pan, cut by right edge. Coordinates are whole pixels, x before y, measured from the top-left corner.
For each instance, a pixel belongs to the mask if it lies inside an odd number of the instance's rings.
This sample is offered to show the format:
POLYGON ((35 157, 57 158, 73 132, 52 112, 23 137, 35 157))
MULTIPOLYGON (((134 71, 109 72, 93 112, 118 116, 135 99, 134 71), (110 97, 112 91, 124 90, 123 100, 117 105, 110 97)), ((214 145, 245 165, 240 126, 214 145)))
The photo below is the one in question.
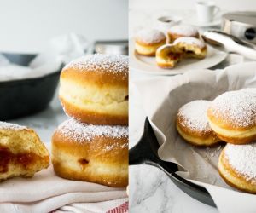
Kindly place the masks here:
POLYGON ((218 172, 231 187, 256 193, 256 144, 227 144, 218 159, 218 172))

